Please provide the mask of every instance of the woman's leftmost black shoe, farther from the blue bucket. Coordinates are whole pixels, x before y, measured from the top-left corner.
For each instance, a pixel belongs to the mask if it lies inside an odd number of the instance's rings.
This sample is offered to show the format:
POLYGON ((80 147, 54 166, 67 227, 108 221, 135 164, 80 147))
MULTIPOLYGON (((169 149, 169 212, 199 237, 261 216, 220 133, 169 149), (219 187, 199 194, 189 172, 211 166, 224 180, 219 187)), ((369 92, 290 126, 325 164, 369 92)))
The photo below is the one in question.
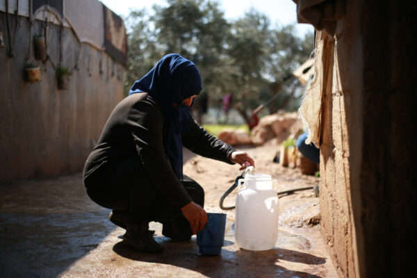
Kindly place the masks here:
POLYGON ((147 227, 148 224, 141 224, 140 227, 133 227, 133 229, 128 227, 122 243, 140 252, 163 252, 163 247, 154 240, 152 231, 148 231, 147 227))

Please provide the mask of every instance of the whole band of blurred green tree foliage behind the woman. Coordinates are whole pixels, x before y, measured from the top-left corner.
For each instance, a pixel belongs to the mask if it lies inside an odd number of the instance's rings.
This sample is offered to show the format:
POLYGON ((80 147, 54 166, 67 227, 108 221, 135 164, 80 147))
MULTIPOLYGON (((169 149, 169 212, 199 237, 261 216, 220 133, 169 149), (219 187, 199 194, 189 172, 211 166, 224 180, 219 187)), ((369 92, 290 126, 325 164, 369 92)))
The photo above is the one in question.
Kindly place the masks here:
POLYGON ((279 93, 277 106, 288 106, 283 100, 296 99, 294 90, 300 84, 294 79, 282 81, 313 50, 313 34, 300 38, 294 25, 272 26, 266 15, 253 8, 228 22, 218 1, 167 0, 165 6, 154 6, 152 15, 133 10, 125 20, 129 31, 126 90, 162 56, 178 53, 197 65, 211 99, 232 94, 245 109, 275 93, 279 93))

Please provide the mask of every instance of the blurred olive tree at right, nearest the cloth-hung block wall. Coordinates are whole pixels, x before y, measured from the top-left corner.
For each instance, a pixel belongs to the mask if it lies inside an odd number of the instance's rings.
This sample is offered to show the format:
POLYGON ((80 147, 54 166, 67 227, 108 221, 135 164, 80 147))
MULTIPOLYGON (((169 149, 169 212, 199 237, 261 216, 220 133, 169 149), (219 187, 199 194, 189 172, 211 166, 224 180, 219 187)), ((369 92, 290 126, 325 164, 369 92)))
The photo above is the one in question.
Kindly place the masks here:
POLYGON ((304 39, 295 35, 293 24, 272 28, 268 17, 256 10, 231 25, 228 40, 229 58, 234 72, 231 90, 240 101, 243 117, 248 110, 267 103, 272 97, 270 111, 278 108, 295 109, 300 97, 295 96, 300 83, 292 72, 309 58, 313 35, 304 39))

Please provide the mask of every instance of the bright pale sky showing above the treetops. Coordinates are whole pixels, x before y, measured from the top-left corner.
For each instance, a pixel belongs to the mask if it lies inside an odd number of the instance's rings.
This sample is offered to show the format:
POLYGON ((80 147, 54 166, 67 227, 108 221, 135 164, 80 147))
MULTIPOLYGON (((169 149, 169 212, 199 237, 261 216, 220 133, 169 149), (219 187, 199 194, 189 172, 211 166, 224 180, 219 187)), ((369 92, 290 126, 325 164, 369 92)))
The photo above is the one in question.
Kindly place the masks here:
MULTIPOLYGON (((146 7, 152 10, 152 5, 165 6, 165 0, 101 0, 108 8, 118 15, 126 16, 130 9, 146 7)), ((227 19, 236 19, 254 7, 271 19, 272 24, 290 24, 297 22, 295 3, 292 0, 221 0, 221 7, 227 19)), ((304 35, 313 31, 309 24, 297 24, 297 32, 304 35)))

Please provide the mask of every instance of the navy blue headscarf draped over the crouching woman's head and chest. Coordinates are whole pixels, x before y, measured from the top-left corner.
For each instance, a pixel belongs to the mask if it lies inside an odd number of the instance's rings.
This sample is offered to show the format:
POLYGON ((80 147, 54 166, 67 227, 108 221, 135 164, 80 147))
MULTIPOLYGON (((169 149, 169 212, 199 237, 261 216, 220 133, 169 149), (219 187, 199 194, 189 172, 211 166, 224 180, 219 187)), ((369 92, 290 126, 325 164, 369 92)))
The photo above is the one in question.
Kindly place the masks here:
POLYGON ((158 61, 145 76, 133 83, 129 92, 148 92, 165 114, 163 145, 172 170, 183 179, 183 154, 181 133, 190 120, 190 109, 182 104, 184 99, 198 95, 202 78, 193 62, 179 54, 168 54, 158 61), (178 104, 177 108, 172 103, 178 104))

